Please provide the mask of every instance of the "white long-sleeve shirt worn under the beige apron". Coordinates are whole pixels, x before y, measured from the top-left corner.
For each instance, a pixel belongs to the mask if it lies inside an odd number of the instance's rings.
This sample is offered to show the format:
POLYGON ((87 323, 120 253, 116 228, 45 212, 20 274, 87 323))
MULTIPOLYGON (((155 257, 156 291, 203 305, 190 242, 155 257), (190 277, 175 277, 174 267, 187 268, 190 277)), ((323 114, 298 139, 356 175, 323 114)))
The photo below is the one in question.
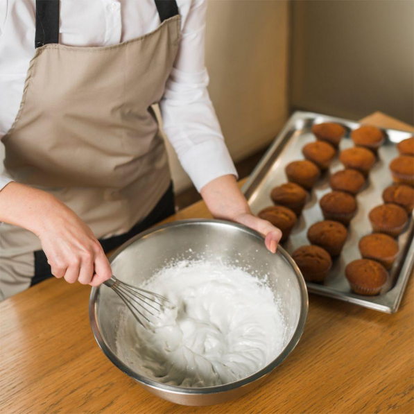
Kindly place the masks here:
MULTIPOLYGON (((180 48, 159 107, 164 132, 200 191, 214 178, 236 175, 236 170, 207 92, 207 0, 177 3, 180 48)), ((110 46, 145 35, 159 24, 154 0, 64 0, 60 2, 59 42, 110 46)), ((34 53, 35 0, 0 0, 0 137, 15 121, 34 53)), ((0 176, 0 189, 10 181, 0 176)))

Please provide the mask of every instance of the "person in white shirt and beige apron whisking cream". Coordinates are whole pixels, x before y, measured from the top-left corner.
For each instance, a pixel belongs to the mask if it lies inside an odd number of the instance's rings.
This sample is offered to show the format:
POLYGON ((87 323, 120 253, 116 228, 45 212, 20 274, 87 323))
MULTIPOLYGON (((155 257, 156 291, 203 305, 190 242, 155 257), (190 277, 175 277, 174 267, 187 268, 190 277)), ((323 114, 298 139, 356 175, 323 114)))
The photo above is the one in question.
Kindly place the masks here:
POLYGON ((207 92, 206 0, 2 0, 0 298, 97 286, 105 252, 174 212, 164 131, 216 218, 266 236, 207 92))

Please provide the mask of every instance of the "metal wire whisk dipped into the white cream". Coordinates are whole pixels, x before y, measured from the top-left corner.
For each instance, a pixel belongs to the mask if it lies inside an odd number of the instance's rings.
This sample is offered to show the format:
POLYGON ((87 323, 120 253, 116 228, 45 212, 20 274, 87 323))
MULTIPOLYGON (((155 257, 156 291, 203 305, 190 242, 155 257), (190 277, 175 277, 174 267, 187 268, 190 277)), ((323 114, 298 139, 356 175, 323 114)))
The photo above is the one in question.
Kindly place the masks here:
POLYGON ((171 302, 166 297, 121 282, 113 275, 103 284, 110 287, 121 297, 135 319, 145 328, 146 325, 144 325, 141 318, 151 324, 153 321, 150 320, 150 315, 157 318, 164 309, 173 309, 171 302))

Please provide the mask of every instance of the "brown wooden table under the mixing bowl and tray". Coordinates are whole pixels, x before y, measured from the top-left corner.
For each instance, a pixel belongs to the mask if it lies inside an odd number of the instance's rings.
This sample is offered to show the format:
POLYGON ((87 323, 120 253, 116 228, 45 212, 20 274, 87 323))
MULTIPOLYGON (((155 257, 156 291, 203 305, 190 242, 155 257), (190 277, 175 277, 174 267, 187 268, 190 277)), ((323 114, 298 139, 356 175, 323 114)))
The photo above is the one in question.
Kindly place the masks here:
MULTIPOLYGON (((367 123, 413 130, 375 113, 367 123)), ((199 202, 175 214, 206 217, 199 202)), ((300 343, 263 386, 214 407, 177 406, 107 360, 90 289, 50 279, 0 304, 0 411, 11 413, 413 413, 414 280, 395 315, 310 296, 300 343)))

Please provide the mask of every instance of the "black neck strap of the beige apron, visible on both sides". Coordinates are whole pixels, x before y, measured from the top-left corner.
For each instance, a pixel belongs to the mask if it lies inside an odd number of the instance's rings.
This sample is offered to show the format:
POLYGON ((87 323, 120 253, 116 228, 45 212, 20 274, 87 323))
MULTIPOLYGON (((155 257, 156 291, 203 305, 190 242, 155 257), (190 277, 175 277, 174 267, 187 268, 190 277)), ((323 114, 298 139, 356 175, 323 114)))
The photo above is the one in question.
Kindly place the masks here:
MULTIPOLYGON (((36 48, 59 43, 59 3, 60 0, 36 0, 36 48)), ((155 6, 161 22, 178 15, 175 0, 155 0, 155 6)))

